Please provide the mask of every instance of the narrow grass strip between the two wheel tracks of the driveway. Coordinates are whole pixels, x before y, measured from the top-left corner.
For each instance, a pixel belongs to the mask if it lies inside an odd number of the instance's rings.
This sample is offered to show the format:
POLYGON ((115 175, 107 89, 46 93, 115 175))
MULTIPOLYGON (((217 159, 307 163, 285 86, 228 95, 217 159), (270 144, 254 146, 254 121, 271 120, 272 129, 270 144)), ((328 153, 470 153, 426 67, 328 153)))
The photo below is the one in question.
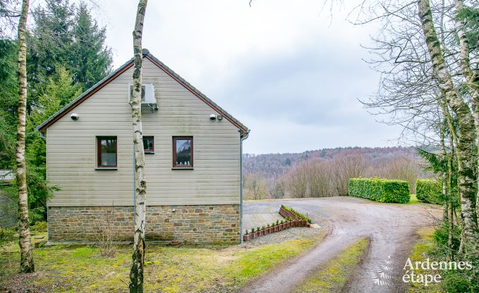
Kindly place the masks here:
POLYGON ((351 245, 341 254, 329 261, 315 275, 308 277, 302 285, 294 289, 294 293, 329 293, 341 292, 346 281, 351 278, 354 270, 368 248, 368 239, 362 239, 351 245))

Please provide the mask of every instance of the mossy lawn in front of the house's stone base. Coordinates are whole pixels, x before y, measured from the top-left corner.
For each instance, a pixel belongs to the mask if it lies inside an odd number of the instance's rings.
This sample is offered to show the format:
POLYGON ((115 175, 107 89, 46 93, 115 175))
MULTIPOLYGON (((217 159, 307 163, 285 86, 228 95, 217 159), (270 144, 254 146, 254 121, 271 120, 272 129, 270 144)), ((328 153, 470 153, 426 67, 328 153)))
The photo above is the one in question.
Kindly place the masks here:
MULTIPOLYGON (((38 234, 37 234, 38 235, 38 234)), ((224 249, 147 245, 146 292, 235 292, 287 258, 313 247, 322 237, 279 244, 224 249)), ((34 249, 34 275, 19 275, 18 244, 0 250, 2 288, 35 288, 30 292, 128 292, 131 246, 116 247, 111 258, 90 246, 56 245, 34 249)), ((15 291, 16 292, 16 291, 15 291)))

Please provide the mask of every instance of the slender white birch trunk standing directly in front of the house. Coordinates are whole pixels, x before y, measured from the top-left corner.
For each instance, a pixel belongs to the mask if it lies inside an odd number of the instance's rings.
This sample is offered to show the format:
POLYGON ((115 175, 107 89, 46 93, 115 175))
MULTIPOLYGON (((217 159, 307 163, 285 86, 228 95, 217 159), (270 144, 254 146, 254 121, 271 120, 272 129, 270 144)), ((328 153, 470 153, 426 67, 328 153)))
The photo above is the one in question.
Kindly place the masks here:
POLYGON ((135 148, 135 242, 133 244, 132 264, 130 270, 130 292, 143 293, 143 268, 145 265, 145 149, 143 149, 143 129, 141 123, 141 91, 143 66, 143 20, 147 0, 138 2, 135 30, 133 30, 133 53, 135 69, 133 71, 133 96, 131 112, 133 118, 133 145, 135 148))

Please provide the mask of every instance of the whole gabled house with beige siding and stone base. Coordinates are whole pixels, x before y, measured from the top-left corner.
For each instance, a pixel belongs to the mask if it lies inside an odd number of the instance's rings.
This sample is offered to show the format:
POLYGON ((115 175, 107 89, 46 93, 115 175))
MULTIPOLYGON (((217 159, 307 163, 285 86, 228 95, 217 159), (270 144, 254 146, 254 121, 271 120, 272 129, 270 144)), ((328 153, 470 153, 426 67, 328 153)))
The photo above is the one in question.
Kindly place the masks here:
MULTIPOLYGON (((49 242, 133 239, 133 58, 44 121, 49 242), (109 225, 108 223, 112 223, 109 225)), ((143 50, 149 241, 238 243, 248 127, 143 50)))

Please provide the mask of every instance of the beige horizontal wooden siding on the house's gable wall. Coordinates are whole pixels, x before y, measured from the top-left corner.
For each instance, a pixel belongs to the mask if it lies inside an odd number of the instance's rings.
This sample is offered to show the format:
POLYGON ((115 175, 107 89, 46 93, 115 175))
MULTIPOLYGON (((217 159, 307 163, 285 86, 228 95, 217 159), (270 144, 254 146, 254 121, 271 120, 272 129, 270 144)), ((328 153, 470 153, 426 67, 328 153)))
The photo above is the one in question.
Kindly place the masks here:
MULTIPOLYGON (((143 112, 143 135, 154 136, 146 156, 147 204, 238 204, 239 133, 152 62, 143 61, 159 111, 143 112), (171 170, 172 137, 193 136, 194 170, 171 170)), ((133 68, 83 101, 47 129, 47 178, 59 185, 50 206, 133 203, 133 144, 128 84, 133 68), (73 121, 71 113, 80 119, 73 121), (95 170, 95 137, 118 137, 118 170, 95 170)), ((216 113, 217 114, 217 113, 216 113)))

